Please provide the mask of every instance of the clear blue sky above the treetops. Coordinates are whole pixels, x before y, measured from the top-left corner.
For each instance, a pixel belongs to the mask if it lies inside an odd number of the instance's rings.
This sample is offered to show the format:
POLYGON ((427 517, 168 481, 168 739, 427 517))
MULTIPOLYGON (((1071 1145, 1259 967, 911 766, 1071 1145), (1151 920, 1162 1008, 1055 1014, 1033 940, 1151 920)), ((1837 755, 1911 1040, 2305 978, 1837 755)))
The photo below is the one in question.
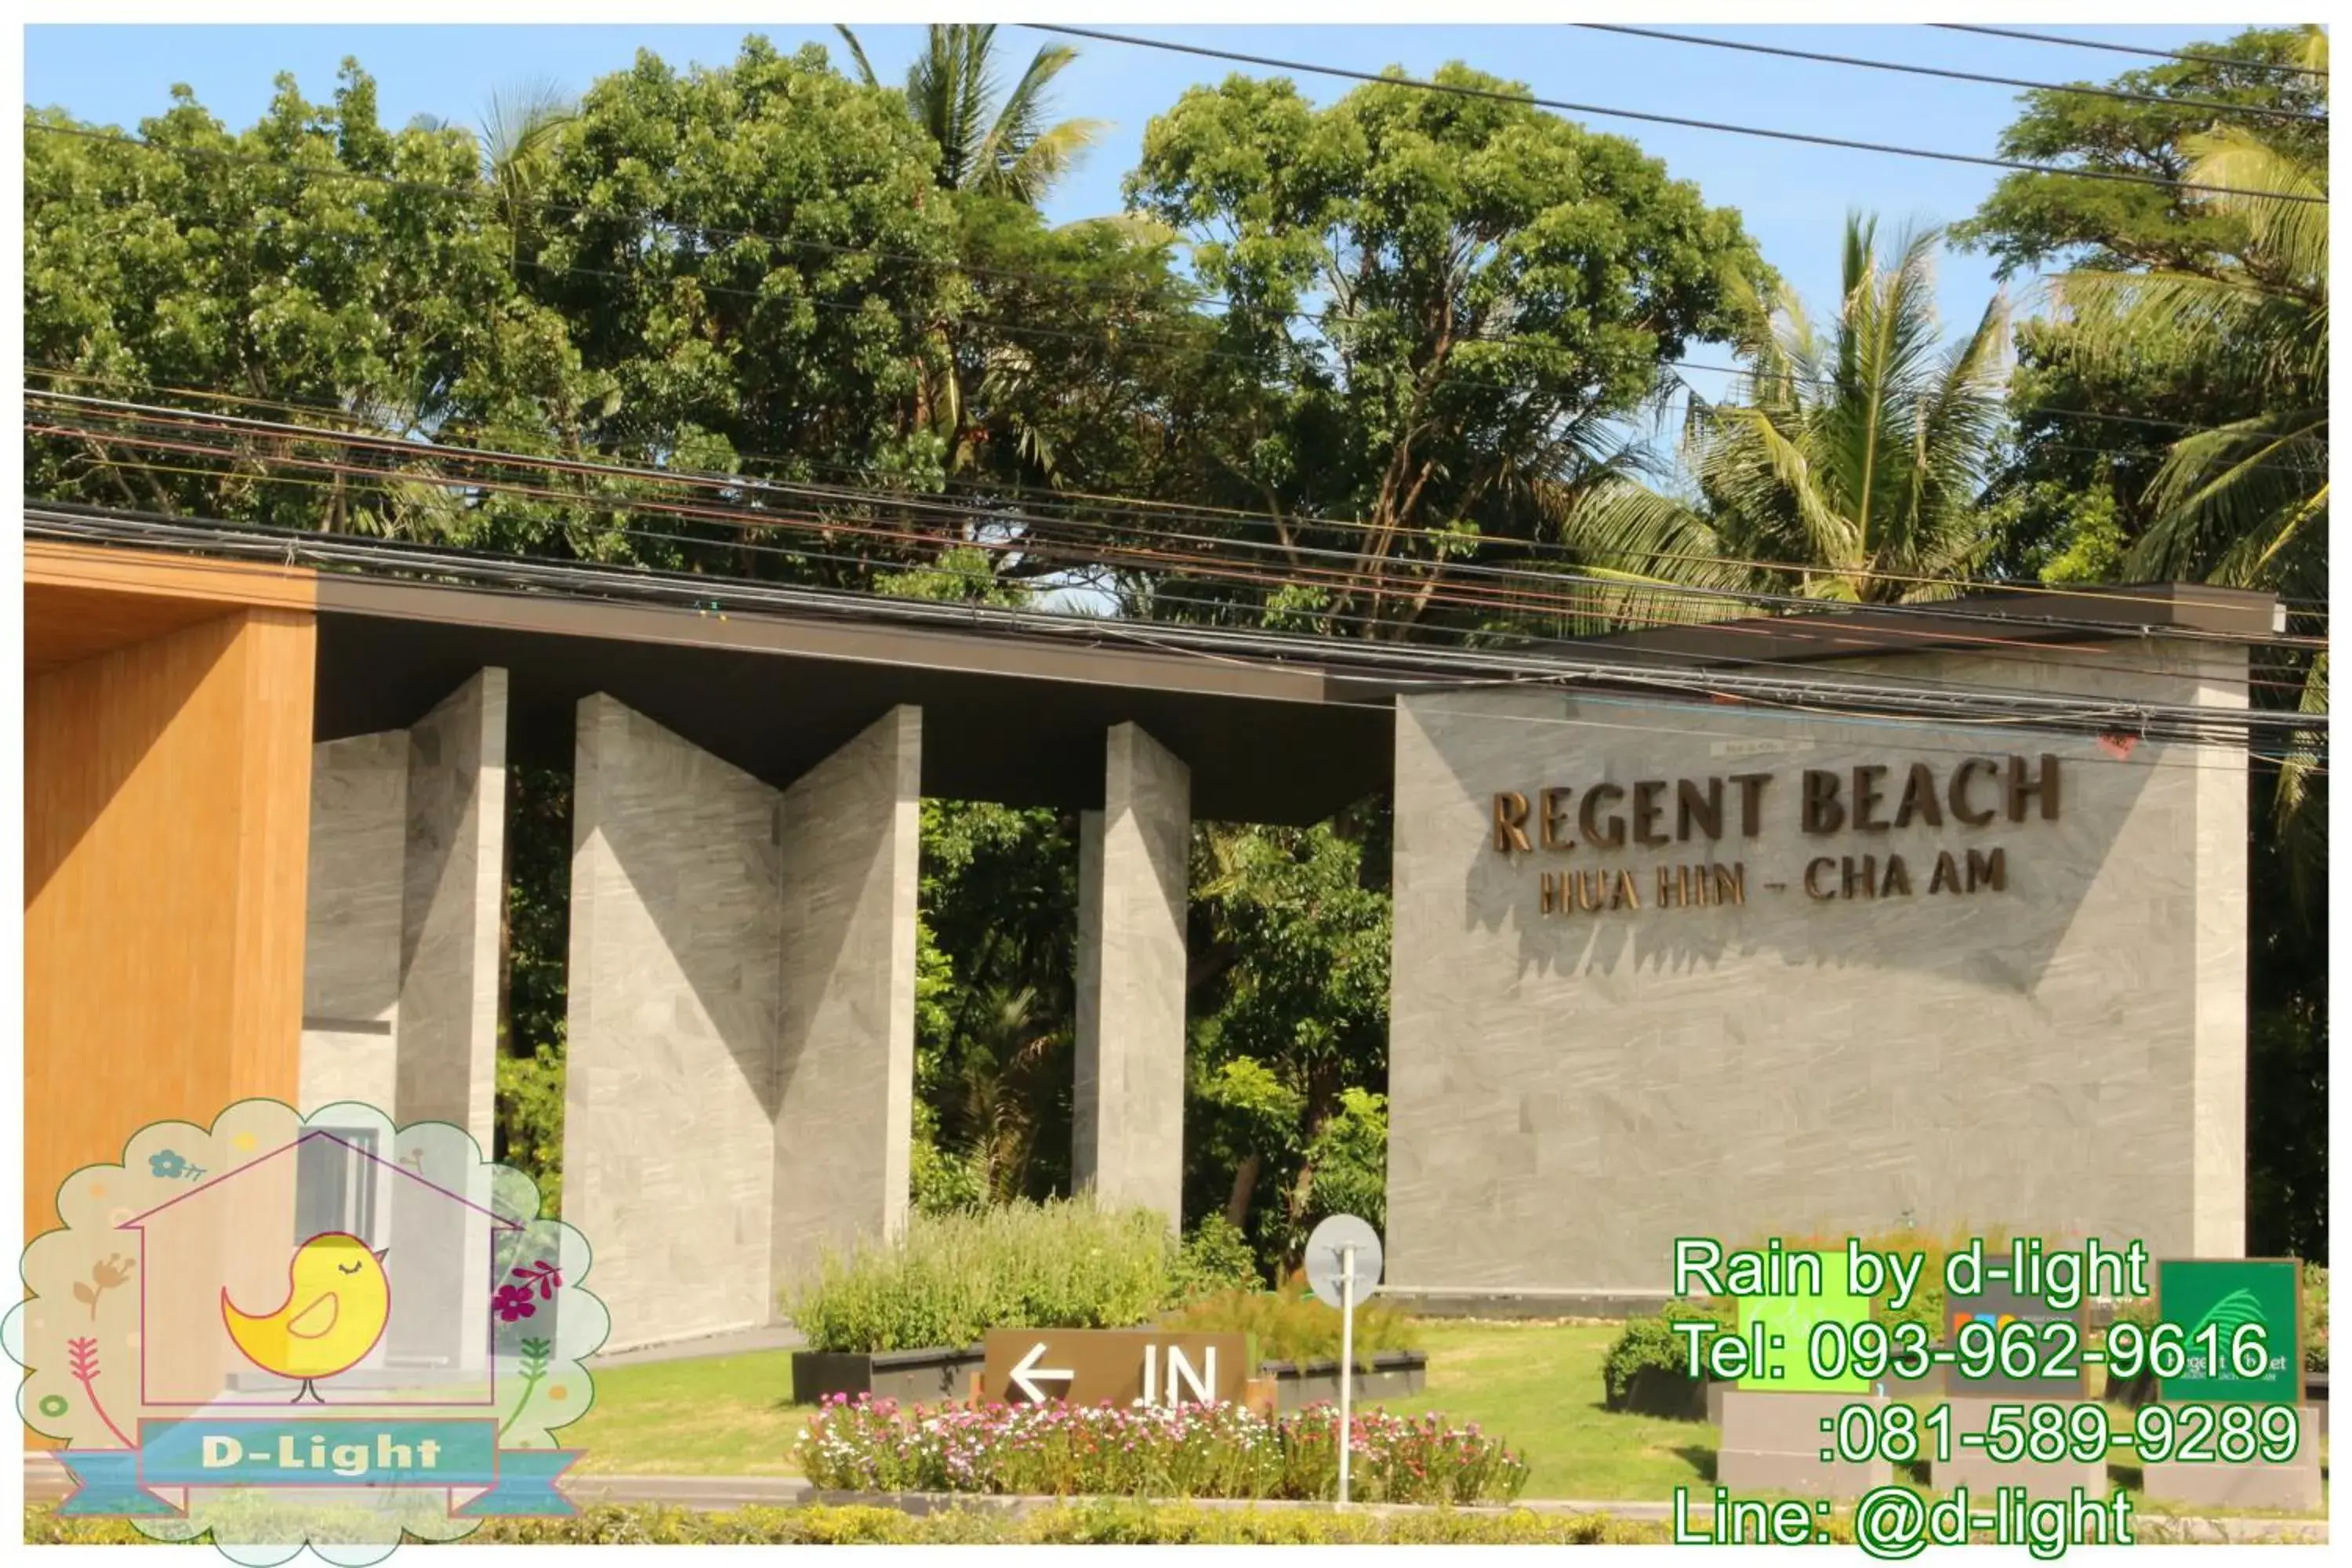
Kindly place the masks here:
MULTIPOLYGON (((2180 49, 2220 40, 2246 24, 2037 28, 2107 42, 2180 49)), ((268 101, 270 78, 292 71, 303 92, 322 99, 339 61, 350 54, 376 78, 383 118, 400 125, 419 113, 477 122, 501 87, 546 78, 581 89, 602 73, 628 66, 637 49, 673 63, 724 63, 743 26, 28 26, 26 101, 64 106, 82 120, 134 127, 160 113, 174 82, 230 127, 249 125, 268 101)), ((830 28, 769 26, 779 47, 833 45, 830 28)), ((1296 61, 1378 71, 1399 63, 1428 75, 1449 59, 1526 82, 1538 96, 1668 115, 1764 125, 1825 136, 1891 141, 1955 153, 1992 153, 2016 113, 2004 87, 1943 82, 1771 59, 1731 49, 1592 33, 1571 26, 1112 26, 1122 33, 1174 38, 1209 47, 1296 61)), ((2124 54, 1980 38, 1922 26, 1684 26, 1682 33, 1771 42, 1780 47, 1931 63, 1955 71, 2049 82, 2105 82, 2136 61, 2124 54)), ((868 26, 858 31, 884 80, 898 80, 922 28, 868 26)), ((1016 66, 1051 42, 1018 26, 1004 28, 1016 66)), ((835 45, 835 59, 847 63, 835 45)), ((1110 120, 1112 129, 1089 160, 1054 193, 1049 216, 1082 219, 1120 207, 1120 179, 1134 167, 1145 122, 1195 82, 1216 82, 1223 61, 1080 42, 1080 59, 1058 82, 1063 115, 1110 120)), ((1352 82, 1298 78, 1319 103, 1352 82)), ((1738 207, 1764 254, 1825 310, 1837 289, 1837 235, 1853 207, 1882 214, 1882 230, 1905 221, 1945 223, 1976 209, 1997 169, 1886 158, 1837 148, 1759 141, 1719 132, 1639 125, 1578 115, 1595 129, 1632 136, 1668 162, 1715 205, 1738 207)), ((1947 256, 1940 303, 1952 331, 1973 327, 1994 289, 1980 256, 1947 256)), ((1722 357, 1722 350, 1703 350, 1722 357)), ((1717 393, 1712 378, 1700 390, 1717 393)))

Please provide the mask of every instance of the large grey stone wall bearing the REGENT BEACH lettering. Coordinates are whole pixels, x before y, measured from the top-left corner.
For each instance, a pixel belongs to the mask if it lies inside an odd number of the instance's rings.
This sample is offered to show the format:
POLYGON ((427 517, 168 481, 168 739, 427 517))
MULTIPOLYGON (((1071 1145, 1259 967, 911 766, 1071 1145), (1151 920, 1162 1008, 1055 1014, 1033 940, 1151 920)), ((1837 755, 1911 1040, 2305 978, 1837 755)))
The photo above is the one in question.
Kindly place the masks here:
MULTIPOLYGON (((2039 658, 1837 668, 2246 696, 2223 644, 2039 658)), ((2241 1251, 2241 752, 1446 691, 1395 820, 1397 1291, 1661 1293, 1691 1234, 2241 1251)))

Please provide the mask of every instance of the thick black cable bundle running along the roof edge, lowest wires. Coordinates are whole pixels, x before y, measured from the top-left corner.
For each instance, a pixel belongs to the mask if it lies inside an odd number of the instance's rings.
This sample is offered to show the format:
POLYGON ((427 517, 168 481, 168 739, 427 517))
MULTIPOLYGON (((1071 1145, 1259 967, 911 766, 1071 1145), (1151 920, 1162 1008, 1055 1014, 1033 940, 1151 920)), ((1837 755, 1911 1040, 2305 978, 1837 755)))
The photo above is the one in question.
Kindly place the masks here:
MULTIPOLYGON (((287 564, 301 564, 303 559, 318 564, 358 564, 358 567, 381 567, 400 574, 423 574, 447 581, 470 581, 470 583, 496 583, 520 588, 569 588, 572 597, 649 597, 670 604, 694 607, 694 609, 717 609, 722 604, 753 604, 767 609, 811 609, 823 614, 849 614, 863 621, 906 621, 906 623, 929 623, 938 625, 953 621, 967 625, 969 630, 995 630, 995 632, 1033 632, 1051 630, 1063 639, 1077 635, 1089 642, 1117 639, 1136 642, 1131 628, 1115 621, 1098 618, 1073 618, 1073 616, 1042 616, 1035 611, 993 609, 993 607, 941 607, 913 599, 884 599, 877 595, 858 595, 842 590, 807 590, 807 588, 776 588, 755 583, 724 583, 720 585, 706 576, 680 576, 680 574, 652 574, 630 571, 616 574, 612 569, 581 569, 567 562, 546 562, 522 555, 482 555, 482 552, 456 552, 447 548, 409 548, 409 545, 386 545, 386 543, 360 543, 348 538, 332 538, 310 531, 280 531, 280 529, 254 529, 238 527, 228 529, 223 524, 212 527, 188 527, 186 522, 153 522, 136 515, 108 512, 108 510, 61 510, 45 505, 26 508, 26 527, 38 536, 113 536, 113 538, 153 538, 153 541, 176 541, 181 545, 193 545, 205 552, 245 552, 261 555, 263 559, 285 559, 287 564)), ((1823 682, 1818 677, 1795 682, 1785 677, 1750 677, 1738 672, 1665 672, 1653 668, 1630 668, 1611 661, 1566 661, 1566 658, 1524 658, 1524 656, 1498 656, 1484 651, 1463 649, 1383 649, 1367 642, 1336 642, 1336 639, 1303 639, 1275 632, 1232 632, 1232 630, 1209 630, 1209 628, 1148 628, 1143 642, 1157 642, 1164 646, 1185 646, 1202 654, 1254 654, 1261 661, 1275 658, 1279 663, 1308 663, 1319 665, 1327 672, 1348 668, 1367 668, 1383 677, 1390 675, 1449 675, 1456 684, 1463 677, 1524 677, 1534 684, 1602 684, 1618 689, 1639 691, 1663 691, 1682 696, 1705 696, 1710 701, 1738 701, 1738 703, 1820 703, 1842 712, 1875 712, 1886 710, 1889 717, 1919 719, 1931 724, 1938 712, 1957 717, 1985 717, 2006 719, 2011 726, 2030 731, 2051 733, 2093 733, 2093 736, 2138 736, 2145 741, 2185 741, 2206 743, 2216 736, 2251 736, 2258 729, 2277 729, 2300 736, 2321 736, 2326 731, 2324 715, 2274 715, 2256 708, 2206 708, 2206 705, 2180 705, 2180 703, 2129 703, 2129 701, 2100 701, 2100 703, 2072 703, 2056 698, 2006 698, 1999 705, 1987 705, 1980 698, 1945 698, 1938 693, 1919 693, 1903 689, 1886 689, 1867 679, 1846 682, 1823 682)))

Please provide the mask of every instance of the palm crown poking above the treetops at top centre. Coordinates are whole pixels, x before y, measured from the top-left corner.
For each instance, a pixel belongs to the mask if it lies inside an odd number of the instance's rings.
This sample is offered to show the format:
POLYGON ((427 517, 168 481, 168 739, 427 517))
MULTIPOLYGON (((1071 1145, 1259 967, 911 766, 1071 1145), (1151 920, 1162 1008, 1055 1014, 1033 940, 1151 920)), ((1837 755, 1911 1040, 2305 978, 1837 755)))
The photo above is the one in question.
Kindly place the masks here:
MULTIPOLYGON (((835 24, 858 75, 880 87, 866 47, 835 24)), ((1037 49, 1011 92, 1000 92, 993 24, 931 24, 929 47, 906 71, 906 113, 938 146, 938 186, 1007 195, 1035 207, 1103 134, 1101 120, 1047 125, 1047 85, 1077 59, 1068 45, 1037 49)))

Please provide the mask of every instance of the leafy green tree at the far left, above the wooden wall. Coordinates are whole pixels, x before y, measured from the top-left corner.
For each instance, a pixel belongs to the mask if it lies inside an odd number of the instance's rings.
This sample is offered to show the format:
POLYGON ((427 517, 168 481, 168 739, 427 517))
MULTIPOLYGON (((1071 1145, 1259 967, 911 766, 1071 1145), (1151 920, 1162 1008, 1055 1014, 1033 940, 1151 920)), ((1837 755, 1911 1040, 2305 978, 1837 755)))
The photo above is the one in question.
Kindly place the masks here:
MULTIPOLYGON (((26 360, 38 381, 132 400, 195 388, 254 400, 242 411, 263 418, 402 437, 515 433, 520 421, 527 442, 543 442, 550 409, 595 397, 564 322, 515 287, 513 237, 480 200, 475 139, 383 129, 355 61, 329 103, 280 75, 242 134, 174 89, 139 141, 61 110, 26 118, 26 360)), ((449 505, 419 487, 355 482, 332 447, 301 437, 216 442, 223 456, 35 437, 26 484, 350 531, 414 531, 449 505), (252 461, 261 456, 275 461, 252 461)))

